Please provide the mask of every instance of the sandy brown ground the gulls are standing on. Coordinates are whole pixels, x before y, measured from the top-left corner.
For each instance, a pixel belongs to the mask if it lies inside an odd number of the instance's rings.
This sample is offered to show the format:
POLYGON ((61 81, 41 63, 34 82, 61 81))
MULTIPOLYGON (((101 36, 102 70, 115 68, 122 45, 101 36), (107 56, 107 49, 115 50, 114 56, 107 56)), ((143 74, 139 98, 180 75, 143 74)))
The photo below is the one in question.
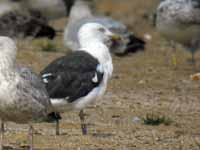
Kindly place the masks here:
MULTIPOLYGON (((145 52, 124 57, 113 56, 114 74, 105 96, 91 105, 87 114, 88 135, 82 136, 78 112, 63 114, 61 135, 55 136, 55 124, 34 124, 34 148, 37 150, 200 150, 200 81, 191 81, 190 54, 179 45, 178 68, 170 62, 171 47, 153 28, 148 13, 153 0, 101 0, 98 10, 123 21, 136 35, 151 35, 145 52), (170 118, 169 125, 143 123, 148 114, 170 118)), ((62 29, 60 19, 52 24, 62 29)), ((56 52, 41 51, 46 40, 18 42, 19 64, 39 72, 68 51, 62 35, 53 43, 56 52)), ((196 55, 199 60, 200 55, 196 55)), ((200 67, 197 61, 197 72, 200 67)), ((7 124, 5 143, 26 149, 27 125, 7 124)), ((10 149, 10 148, 8 148, 10 149)))

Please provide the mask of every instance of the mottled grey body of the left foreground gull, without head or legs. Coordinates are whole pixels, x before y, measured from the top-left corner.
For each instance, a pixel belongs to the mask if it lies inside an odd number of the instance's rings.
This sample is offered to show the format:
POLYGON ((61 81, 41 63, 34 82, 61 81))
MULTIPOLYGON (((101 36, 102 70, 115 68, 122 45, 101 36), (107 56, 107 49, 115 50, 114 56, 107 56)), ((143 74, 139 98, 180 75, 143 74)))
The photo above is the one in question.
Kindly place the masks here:
POLYGON ((37 75, 27 68, 17 68, 9 75, 4 81, 7 91, 0 93, 0 117, 16 123, 47 121, 53 109, 37 75))

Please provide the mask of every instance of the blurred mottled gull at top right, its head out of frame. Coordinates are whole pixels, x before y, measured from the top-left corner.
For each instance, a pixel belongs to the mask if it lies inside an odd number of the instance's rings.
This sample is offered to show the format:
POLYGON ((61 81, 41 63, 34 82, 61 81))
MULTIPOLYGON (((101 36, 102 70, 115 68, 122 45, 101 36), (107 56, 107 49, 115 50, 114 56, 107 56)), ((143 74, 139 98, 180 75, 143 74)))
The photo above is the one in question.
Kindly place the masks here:
MULTIPOLYGON (((162 0, 157 9, 156 27, 167 39, 184 45, 195 64, 194 55, 200 48, 199 0, 162 0)), ((176 66, 175 54, 173 64, 176 66)))

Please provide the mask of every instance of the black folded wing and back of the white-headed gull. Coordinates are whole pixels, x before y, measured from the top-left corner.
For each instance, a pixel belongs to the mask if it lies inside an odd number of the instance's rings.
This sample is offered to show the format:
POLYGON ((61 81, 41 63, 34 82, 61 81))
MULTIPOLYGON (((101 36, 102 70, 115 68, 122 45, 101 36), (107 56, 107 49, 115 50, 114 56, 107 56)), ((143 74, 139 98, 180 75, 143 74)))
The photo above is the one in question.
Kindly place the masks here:
POLYGON ((99 66, 98 60, 88 53, 76 51, 49 64, 41 75, 51 98, 73 102, 101 83, 103 72, 99 66))

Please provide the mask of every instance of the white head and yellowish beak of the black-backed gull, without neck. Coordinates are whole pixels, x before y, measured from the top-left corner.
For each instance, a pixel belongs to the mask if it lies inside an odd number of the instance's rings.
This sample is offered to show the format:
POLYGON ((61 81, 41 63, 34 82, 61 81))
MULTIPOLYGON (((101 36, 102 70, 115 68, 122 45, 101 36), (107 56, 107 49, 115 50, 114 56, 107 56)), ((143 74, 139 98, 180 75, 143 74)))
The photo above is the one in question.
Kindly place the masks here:
POLYGON ((112 41, 119 40, 120 37, 99 23, 86 23, 80 28, 78 39, 81 47, 88 42, 100 42, 110 48, 112 41))

